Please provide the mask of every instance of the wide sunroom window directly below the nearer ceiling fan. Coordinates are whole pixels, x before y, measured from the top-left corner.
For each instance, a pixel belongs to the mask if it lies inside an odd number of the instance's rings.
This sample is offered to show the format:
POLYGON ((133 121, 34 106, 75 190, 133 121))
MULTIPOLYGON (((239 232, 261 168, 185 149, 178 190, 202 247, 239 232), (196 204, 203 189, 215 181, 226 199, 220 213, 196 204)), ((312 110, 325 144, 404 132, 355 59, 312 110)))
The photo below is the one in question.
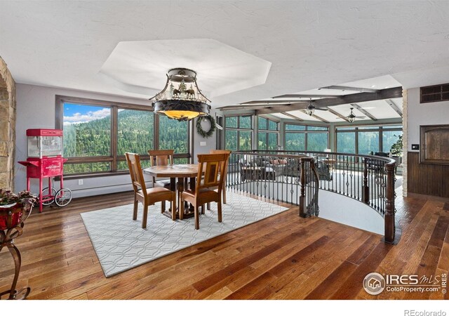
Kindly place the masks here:
POLYGON ((323 152, 329 146, 327 126, 285 125, 286 150, 323 152))

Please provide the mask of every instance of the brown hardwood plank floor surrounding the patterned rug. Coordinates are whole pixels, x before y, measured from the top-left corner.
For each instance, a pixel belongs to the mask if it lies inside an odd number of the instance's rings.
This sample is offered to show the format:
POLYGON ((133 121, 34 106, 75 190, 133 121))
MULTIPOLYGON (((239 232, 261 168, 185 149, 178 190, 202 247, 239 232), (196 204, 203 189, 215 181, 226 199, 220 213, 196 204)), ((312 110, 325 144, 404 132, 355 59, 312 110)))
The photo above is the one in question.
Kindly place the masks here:
MULTIPOLYGON (((87 197, 30 216, 16 240, 18 288, 31 287, 30 299, 448 298, 441 291, 370 296, 362 288, 369 272, 448 273, 448 200, 398 197, 403 231, 396 246, 290 209, 106 278, 79 214, 130 203, 130 192, 87 197)), ((12 269, 10 254, 1 251, 0 291, 10 286, 12 269)))

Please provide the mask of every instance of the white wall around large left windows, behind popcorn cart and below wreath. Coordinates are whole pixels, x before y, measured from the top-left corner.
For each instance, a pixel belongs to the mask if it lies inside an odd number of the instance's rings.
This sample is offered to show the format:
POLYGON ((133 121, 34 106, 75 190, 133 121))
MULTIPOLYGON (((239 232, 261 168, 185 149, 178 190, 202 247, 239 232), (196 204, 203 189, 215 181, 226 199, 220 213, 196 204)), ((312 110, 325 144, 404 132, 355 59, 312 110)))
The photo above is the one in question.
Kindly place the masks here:
MULTIPOLYGON (((62 88, 48 88, 43 86, 33 86, 29 84, 17 85, 17 123, 16 151, 15 151, 15 188, 24 190, 27 186, 26 168, 18 164, 18 161, 27 159, 27 129, 54 129, 55 128, 55 96, 73 96, 79 98, 91 98, 95 100, 109 100, 112 102, 133 103, 138 105, 148 105, 148 100, 135 98, 123 98, 87 91, 76 91, 62 88)), ((206 126, 205 126, 206 127, 206 126)), ((195 129, 196 131, 196 129, 195 129)), ((203 138, 196 133, 194 137, 194 154, 208 152, 215 148, 215 135, 206 140, 206 146, 200 147, 203 138)), ((56 187, 59 183, 55 183, 56 187)), ((44 187, 45 187, 44 183, 44 187)), ((74 197, 88 195, 101 195, 112 192, 123 192, 132 190, 128 175, 102 176, 96 178, 83 179, 83 185, 78 185, 78 180, 65 180, 64 187, 68 187, 74 192, 74 197)), ((38 181, 32 180, 32 192, 39 191, 38 181)))

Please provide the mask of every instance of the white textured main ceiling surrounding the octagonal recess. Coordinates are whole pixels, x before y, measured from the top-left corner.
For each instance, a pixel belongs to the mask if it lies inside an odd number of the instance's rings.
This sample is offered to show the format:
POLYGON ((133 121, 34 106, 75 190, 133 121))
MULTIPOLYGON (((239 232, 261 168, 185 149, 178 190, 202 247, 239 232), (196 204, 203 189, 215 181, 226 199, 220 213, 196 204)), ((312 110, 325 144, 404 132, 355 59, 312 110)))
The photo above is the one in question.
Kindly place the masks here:
POLYGON ((448 16, 449 1, 0 1, 0 55, 19 83, 144 99, 100 75, 122 41, 214 39, 272 62, 220 106, 387 74, 448 82, 448 16))

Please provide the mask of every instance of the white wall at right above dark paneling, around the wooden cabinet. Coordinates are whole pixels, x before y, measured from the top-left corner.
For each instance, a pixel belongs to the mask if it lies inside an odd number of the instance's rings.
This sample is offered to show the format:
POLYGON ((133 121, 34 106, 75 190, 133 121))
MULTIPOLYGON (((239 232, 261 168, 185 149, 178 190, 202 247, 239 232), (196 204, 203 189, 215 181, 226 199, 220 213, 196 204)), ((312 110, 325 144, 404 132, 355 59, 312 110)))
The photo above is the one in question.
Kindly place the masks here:
POLYGON ((449 124, 449 101, 420 104, 420 88, 408 89, 408 151, 420 143, 420 125, 449 124))

